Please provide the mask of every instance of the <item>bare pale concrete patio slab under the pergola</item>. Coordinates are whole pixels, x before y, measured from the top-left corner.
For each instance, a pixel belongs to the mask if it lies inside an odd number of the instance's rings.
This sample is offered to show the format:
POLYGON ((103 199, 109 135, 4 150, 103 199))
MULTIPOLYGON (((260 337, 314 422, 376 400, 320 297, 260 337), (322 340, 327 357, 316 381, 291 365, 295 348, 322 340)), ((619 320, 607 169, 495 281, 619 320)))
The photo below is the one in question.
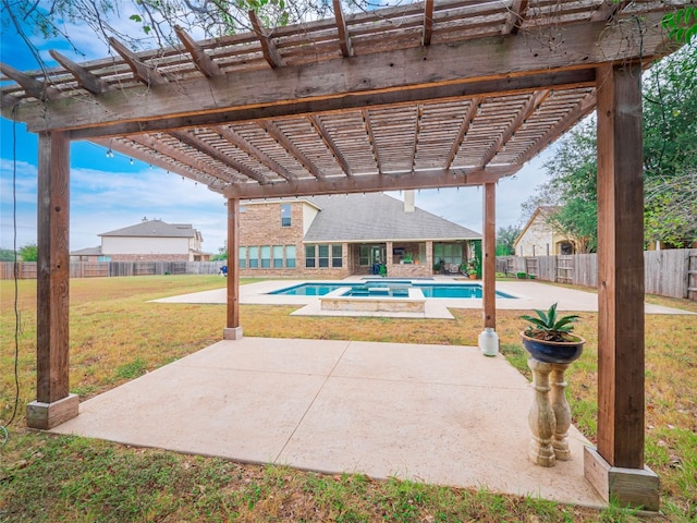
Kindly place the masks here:
POLYGON ((572 461, 527 460, 531 400, 476 348, 243 338, 89 399, 52 431, 603 506, 575 428, 572 461))

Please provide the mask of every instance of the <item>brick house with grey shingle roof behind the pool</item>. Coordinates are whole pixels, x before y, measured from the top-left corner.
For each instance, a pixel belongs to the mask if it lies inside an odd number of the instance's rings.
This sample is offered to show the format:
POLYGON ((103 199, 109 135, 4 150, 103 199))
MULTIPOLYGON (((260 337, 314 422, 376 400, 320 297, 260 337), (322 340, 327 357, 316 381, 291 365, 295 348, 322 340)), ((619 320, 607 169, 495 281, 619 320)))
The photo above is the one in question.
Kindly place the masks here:
POLYGON ((240 208, 240 269, 245 277, 426 277, 442 260, 473 257, 481 235, 381 193, 245 202, 240 208))

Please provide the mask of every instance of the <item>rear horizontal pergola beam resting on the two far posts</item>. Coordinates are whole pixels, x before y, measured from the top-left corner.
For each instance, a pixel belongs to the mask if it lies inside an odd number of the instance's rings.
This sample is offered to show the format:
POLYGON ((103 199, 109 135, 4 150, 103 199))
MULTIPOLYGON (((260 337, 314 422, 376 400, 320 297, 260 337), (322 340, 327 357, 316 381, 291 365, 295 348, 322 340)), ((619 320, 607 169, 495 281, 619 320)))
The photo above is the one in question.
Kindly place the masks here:
POLYGON ((408 188, 465 187, 494 183, 513 174, 517 167, 479 170, 438 169, 431 171, 405 171, 390 174, 360 174, 354 177, 327 177, 298 180, 295 183, 274 183, 266 186, 246 184, 223 191, 227 197, 257 199, 265 197, 314 196, 318 194, 369 193, 379 191, 405 191, 408 188))

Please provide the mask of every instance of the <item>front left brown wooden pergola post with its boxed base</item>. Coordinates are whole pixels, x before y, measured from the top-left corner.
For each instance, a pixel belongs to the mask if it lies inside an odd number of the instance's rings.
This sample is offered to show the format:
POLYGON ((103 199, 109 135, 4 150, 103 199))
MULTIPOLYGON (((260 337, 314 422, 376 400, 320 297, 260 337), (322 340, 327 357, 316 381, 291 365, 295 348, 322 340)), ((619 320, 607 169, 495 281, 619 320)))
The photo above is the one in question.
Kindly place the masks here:
POLYGON ((36 401, 26 423, 48 429, 75 417, 80 400, 69 390, 70 141, 39 133, 36 401))

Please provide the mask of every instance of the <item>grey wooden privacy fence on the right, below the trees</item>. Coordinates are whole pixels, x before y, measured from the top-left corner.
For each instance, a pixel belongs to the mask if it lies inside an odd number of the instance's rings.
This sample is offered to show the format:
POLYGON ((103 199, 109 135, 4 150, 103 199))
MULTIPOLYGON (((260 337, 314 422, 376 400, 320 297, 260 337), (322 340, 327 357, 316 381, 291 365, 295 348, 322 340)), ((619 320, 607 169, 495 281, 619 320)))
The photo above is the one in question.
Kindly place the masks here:
MULTIPOLYGON (((697 250, 644 252, 647 294, 697 300, 697 250)), ((497 271, 584 287, 598 287, 598 255, 499 256, 497 271)))

